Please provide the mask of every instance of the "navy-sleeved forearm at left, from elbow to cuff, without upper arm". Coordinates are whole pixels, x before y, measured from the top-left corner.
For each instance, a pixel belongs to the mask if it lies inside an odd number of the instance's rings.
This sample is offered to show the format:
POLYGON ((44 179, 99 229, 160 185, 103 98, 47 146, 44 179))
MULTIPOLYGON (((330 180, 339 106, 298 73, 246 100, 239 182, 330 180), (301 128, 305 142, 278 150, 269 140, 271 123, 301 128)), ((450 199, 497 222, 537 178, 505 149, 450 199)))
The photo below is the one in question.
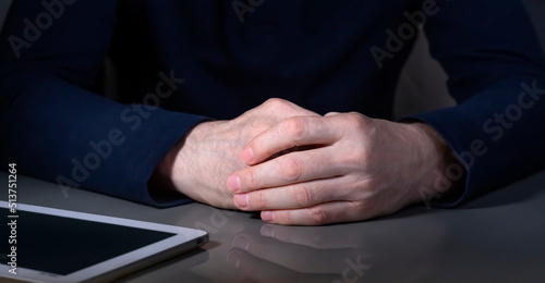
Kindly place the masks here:
POLYGON ((16 161, 25 174, 63 186, 165 206, 169 201, 148 194, 147 180, 202 119, 120 104, 45 77, 26 82, 2 116, 2 133, 9 135, 2 136, 0 157, 16 161))

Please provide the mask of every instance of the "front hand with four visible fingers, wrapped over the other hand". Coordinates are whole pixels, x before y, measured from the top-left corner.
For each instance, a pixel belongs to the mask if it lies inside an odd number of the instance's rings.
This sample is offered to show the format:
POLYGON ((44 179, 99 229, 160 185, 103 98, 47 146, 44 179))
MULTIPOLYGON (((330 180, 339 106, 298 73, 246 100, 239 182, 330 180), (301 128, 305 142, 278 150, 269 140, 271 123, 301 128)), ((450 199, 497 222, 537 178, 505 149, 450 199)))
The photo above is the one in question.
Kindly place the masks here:
POLYGON ((239 209, 262 210, 266 222, 360 221, 423 200, 419 188, 433 187, 433 172, 444 172, 449 152, 421 123, 359 113, 293 116, 250 142, 241 159, 252 167, 229 176, 228 187, 239 209), (314 148, 267 160, 294 146, 314 148))

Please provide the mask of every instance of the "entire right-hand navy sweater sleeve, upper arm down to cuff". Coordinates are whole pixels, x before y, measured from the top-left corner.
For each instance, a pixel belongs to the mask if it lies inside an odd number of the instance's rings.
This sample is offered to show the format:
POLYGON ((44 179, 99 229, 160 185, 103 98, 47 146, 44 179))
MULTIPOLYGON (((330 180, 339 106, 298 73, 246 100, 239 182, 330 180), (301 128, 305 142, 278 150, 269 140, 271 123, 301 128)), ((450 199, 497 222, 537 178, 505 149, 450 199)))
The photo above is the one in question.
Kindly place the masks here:
POLYGON ((433 126, 465 167, 463 194, 433 202, 452 207, 545 169, 545 62, 519 0, 423 2, 436 3, 425 33, 458 106, 408 119, 433 126))

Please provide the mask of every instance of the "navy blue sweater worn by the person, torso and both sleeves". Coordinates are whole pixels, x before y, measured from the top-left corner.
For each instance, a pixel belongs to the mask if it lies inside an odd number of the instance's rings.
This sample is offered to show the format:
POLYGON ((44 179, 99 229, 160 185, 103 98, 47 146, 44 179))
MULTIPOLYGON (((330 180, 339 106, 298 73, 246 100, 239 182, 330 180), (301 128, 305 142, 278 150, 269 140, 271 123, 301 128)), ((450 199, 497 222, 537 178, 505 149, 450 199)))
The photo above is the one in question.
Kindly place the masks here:
POLYGON ((279 97, 390 119, 421 25, 458 106, 410 119, 468 170, 441 205, 543 170, 545 61, 518 0, 16 0, 0 36, 0 163, 64 194, 183 204, 147 181, 206 118, 279 97), (106 58, 118 101, 100 87, 106 58))

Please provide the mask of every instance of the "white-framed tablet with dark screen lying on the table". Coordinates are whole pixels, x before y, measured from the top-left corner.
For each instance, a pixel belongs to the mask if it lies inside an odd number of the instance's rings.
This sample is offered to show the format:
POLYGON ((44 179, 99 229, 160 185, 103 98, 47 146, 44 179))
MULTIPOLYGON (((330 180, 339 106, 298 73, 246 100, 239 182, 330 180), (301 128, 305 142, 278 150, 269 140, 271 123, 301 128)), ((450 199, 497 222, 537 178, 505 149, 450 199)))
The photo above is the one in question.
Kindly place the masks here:
MULTIPOLYGON (((205 231, 0 201, 1 276, 105 282, 208 242, 205 231)), ((0 281, 2 281, 0 279, 0 281)))

